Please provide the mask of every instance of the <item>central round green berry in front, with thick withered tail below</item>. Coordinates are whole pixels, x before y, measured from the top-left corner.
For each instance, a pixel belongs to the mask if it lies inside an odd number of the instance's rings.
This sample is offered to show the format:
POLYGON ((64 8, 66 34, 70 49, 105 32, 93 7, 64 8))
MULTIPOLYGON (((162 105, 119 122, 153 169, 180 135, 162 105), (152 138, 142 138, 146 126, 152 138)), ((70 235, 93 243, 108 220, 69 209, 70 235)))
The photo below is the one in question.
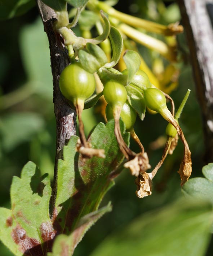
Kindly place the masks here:
POLYGON ((127 91, 123 84, 116 80, 108 81, 103 88, 105 100, 111 107, 123 106, 127 100, 127 91))

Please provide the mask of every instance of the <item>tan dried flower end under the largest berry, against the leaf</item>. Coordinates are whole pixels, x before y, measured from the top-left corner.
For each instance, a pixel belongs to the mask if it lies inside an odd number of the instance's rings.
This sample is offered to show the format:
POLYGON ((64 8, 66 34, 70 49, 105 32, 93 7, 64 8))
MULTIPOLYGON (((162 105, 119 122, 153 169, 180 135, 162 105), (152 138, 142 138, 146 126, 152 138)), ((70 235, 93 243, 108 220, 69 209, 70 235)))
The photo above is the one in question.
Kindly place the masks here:
POLYGON ((93 156, 100 158, 106 157, 104 149, 92 148, 92 145, 89 142, 86 142, 86 147, 84 147, 82 146, 80 139, 77 140, 76 151, 87 158, 92 158, 93 156))

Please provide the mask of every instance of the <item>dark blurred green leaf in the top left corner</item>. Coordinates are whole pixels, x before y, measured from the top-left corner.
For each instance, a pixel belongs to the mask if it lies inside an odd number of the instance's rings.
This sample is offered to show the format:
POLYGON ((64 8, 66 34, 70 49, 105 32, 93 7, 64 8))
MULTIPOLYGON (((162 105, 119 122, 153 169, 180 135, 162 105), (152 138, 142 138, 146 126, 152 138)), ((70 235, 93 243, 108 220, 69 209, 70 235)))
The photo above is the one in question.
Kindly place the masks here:
POLYGON ((0 20, 20 16, 35 6, 34 0, 1 0, 0 20))

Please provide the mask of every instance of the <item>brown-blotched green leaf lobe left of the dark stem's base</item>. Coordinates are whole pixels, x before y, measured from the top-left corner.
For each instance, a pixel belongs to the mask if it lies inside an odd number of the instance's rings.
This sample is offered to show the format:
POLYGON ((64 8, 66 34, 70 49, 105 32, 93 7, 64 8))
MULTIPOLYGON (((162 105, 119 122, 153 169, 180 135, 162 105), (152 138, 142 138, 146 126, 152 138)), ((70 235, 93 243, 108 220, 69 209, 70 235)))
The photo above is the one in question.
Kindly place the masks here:
POLYGON ((13 177, 12 209, 0 209, 0 216, 4 216, 0 239, 15 255, 26 252, 43 255, 47 250, 48 241, 56 233, 49 218, 50 195, 48 175, 40 177, 39 169, 32 162, 24 166, 21 178, 13 177))

